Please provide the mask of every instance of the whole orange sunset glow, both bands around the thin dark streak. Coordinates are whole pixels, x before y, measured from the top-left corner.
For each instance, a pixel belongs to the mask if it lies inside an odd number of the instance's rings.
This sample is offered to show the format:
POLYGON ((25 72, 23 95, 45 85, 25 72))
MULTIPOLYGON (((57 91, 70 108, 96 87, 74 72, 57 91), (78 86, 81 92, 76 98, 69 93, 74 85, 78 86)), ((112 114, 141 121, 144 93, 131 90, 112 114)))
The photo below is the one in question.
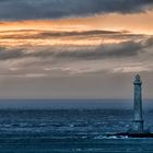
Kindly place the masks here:
POLYGON ((126 39, 106 38, 103 36, 67 36, 31 38, 31 35, 40 32, 84 32, 84 31, 114 31, 130 32, 132 34, 153 35, 153 12, 137 14, 99 14, 89 17, 73 17, 60 20, 35 20, 35 21, 3 21, 0 22, 0 45, 99 45, 125 42, 126 39), (9 37, 5 37, 9 36, 9 37), (28 36, 28 38, 22 38, 28 36))

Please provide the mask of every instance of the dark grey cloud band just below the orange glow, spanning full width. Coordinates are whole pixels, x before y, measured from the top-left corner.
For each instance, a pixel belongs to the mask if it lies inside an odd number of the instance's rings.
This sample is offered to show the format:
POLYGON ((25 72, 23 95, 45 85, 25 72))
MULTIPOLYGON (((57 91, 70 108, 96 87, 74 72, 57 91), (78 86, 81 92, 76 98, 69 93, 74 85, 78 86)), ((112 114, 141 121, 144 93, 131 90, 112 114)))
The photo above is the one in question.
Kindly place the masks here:
POLYGON ((152 48, 153 38, 146 38, 140 42, 123 42, 118 44, 102 44, 97 48, 81 48, 74 50, 69 47, 62 49, 58 47, 37 48, 35 51, 27 51, 26 48, 0 48, 0 60, 21 59, 21 58, 57 58, 57 59, 75 59, 75 60, 96 60, 105 58, 126 58, 138 56, 141 52, 152 48))

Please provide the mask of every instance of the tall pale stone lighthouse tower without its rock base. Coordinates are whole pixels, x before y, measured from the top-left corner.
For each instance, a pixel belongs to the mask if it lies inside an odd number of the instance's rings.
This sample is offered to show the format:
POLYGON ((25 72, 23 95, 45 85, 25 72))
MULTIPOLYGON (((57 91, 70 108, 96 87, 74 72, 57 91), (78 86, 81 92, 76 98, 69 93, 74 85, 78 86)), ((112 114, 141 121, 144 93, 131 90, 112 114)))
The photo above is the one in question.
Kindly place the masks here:
POLYGON ((142 133, 143 131, 143 117, 142 117, 142 94, 141 94, 141 79, 140 75, 136 75, 136 80, 133 82, 134 85, 134 97, 133 97, 133 111, 134 111, 134 120, 133 120, 133 132, 142 133))

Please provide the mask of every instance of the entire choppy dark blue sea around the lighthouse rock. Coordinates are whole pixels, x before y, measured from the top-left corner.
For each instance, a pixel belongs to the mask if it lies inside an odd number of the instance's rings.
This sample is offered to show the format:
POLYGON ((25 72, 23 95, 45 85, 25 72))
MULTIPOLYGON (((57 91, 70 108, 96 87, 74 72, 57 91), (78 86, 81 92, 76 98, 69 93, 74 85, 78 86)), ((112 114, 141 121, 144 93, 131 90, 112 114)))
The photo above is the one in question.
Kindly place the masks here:
MULTIPOLYGON (((107 137, 132 126, 132 99, 0 99, 0 153, 153 153, 152 138, 107 137)), ((143 101, 153 132, 153 101, 143 101)))

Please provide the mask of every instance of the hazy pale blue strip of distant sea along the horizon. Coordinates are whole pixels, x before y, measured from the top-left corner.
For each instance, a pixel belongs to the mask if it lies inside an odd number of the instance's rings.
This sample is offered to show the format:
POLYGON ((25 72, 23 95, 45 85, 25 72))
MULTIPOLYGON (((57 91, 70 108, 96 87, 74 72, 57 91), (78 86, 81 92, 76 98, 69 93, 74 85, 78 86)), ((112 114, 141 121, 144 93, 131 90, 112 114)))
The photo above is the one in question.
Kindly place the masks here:
MULTIPOLYGON (((133 99, 0 99, 0 109, 133 109, 133 99)), ((153 99, 143 99, 153 109, 153 99)))

